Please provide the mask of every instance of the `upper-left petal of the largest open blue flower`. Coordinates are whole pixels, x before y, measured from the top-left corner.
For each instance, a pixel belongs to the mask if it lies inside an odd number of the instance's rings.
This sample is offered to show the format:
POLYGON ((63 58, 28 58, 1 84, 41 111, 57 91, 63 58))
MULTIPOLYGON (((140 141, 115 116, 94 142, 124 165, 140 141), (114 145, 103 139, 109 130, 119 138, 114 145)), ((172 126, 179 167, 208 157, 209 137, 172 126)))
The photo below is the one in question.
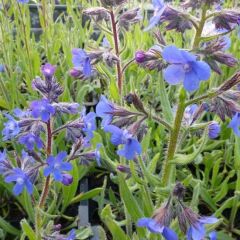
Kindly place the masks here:
POLYGON ((176 46, 165 47, 162 52, 162 57, 168 63, 187 63, 186 59, 182 55, 182 51, 179 50, 176 46))

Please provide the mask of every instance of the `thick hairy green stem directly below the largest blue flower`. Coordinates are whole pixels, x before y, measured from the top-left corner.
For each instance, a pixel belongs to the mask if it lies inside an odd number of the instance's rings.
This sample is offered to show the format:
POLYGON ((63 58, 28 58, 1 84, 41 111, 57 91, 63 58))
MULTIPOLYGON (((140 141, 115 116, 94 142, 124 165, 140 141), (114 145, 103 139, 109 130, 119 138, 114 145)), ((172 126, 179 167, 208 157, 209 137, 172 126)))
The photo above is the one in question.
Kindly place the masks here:
POLYGON ((185 111, 185 99, 186 99, 185 90, 181 89, 179 94, 179 104, 177 107, 177 112, 174 120, 174 126, 170 134, 167 157, 165 159, 165 162, 163 163, 163 168, 162 168, 163 186, 170 185, 172 182, 175 181, 176 169, 175 169, 175 164, 171 163, 171 160, 173 160, 174 158, 174 154, 175 154, 177 143, 178 143, 179 133, 181 130, 182 119, 185 111))

